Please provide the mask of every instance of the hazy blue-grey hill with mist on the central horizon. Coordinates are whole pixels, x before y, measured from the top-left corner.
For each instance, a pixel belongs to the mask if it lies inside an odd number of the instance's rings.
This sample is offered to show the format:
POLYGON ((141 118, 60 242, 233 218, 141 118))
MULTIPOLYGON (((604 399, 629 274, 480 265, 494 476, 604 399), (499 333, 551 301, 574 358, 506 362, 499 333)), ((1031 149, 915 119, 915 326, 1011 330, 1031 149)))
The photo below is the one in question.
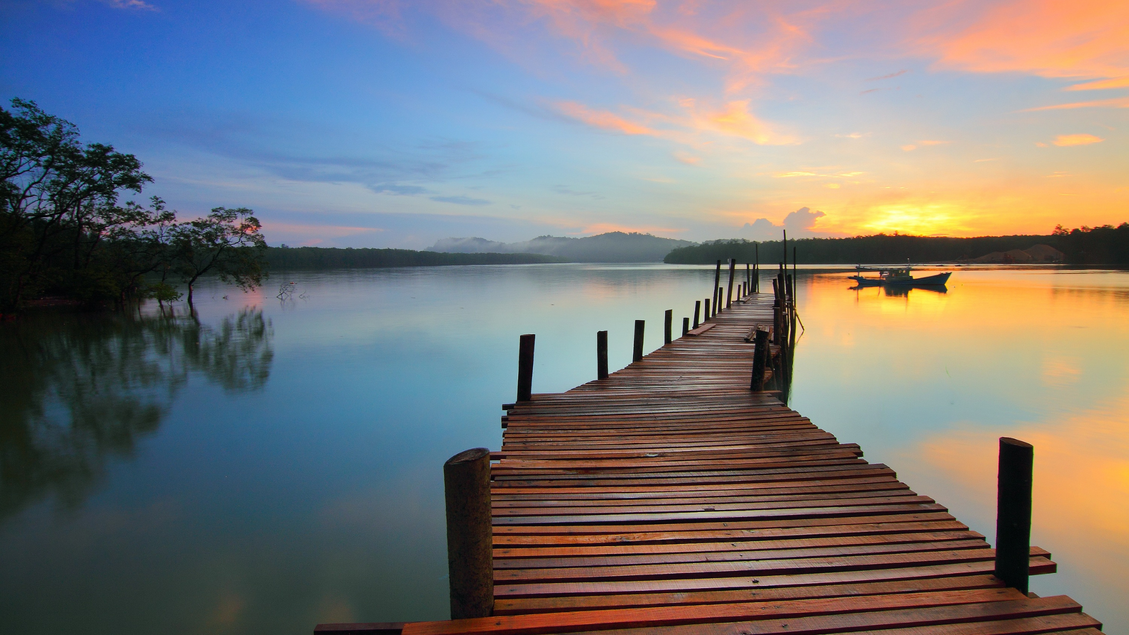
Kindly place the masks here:
POLYGON ((660 238, 650 234, 611 232, 598 236, 570 238, 564 236, 537 236, 520 243, 499 243, 485 238, 444 238, 430 251, 448 253, 541 253, 555 255, 572 262, 660 262, 679 247, 695 243, 675 238, 660 238))

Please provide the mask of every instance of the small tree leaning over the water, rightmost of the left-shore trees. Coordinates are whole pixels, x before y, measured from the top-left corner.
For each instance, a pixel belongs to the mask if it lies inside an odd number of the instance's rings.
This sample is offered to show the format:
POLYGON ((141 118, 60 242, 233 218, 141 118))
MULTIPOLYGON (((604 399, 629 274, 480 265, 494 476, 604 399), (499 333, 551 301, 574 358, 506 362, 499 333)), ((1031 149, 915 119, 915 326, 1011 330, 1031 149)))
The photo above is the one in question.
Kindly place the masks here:
POLYGON ((244 290, 262 284, 266 240, 261 230, 262 224, 245 207, 217 207, 203 218, 173 228, 174 268, 189 286, 189 304, 196 280, 205 273, 244 290))

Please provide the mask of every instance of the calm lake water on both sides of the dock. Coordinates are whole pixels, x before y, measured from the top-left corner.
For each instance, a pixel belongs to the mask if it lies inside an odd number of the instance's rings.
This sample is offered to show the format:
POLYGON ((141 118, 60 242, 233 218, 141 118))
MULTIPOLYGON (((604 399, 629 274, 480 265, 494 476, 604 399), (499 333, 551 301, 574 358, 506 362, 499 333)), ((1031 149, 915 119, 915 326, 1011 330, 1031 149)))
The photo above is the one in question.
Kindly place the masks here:
MULTIPOLYGON (((960 269, 948 292, 802 270, 791 406, 995 538, 996 438, 1035 445, 1033 542, 1126 635, 1129 273, 960 269)), ((308 634, 446 617, 441 463, 534 391, 647 349, 712 271, 528 266, 275 275, 178 307, 0 324, 0 632, 308 634), (295 281, 291 299, 274 297, 295 281), (227 296, 225 298, 224 296, 227 296)))

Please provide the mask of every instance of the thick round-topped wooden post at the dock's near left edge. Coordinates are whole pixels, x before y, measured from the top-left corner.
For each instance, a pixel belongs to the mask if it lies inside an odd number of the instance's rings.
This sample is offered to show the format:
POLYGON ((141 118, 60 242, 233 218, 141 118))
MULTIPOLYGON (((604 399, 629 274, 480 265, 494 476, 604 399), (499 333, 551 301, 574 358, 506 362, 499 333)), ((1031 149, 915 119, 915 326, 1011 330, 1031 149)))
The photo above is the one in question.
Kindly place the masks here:
POLYGON ((447 499, 447 573, 450 618, 493 612, 493 530, 490 520, 490 451, 460 452, 443 464, 447 499))

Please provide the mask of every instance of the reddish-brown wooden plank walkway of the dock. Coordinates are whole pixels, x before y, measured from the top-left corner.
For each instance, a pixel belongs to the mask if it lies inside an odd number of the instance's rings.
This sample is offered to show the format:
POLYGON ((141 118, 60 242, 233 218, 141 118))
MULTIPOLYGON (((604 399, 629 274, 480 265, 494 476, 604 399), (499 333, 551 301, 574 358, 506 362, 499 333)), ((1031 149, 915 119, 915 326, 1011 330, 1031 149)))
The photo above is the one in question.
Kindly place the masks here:
MULTIPOLYGON (((1070 598, 1005 586, 984 537, 891 468, 749 390, 771 296, 710 323, 508 411, 493 615, 403 635, 1099 633, 1070 598)), ((1032 548, 1030 573, 1050 556, 1032 548)))

